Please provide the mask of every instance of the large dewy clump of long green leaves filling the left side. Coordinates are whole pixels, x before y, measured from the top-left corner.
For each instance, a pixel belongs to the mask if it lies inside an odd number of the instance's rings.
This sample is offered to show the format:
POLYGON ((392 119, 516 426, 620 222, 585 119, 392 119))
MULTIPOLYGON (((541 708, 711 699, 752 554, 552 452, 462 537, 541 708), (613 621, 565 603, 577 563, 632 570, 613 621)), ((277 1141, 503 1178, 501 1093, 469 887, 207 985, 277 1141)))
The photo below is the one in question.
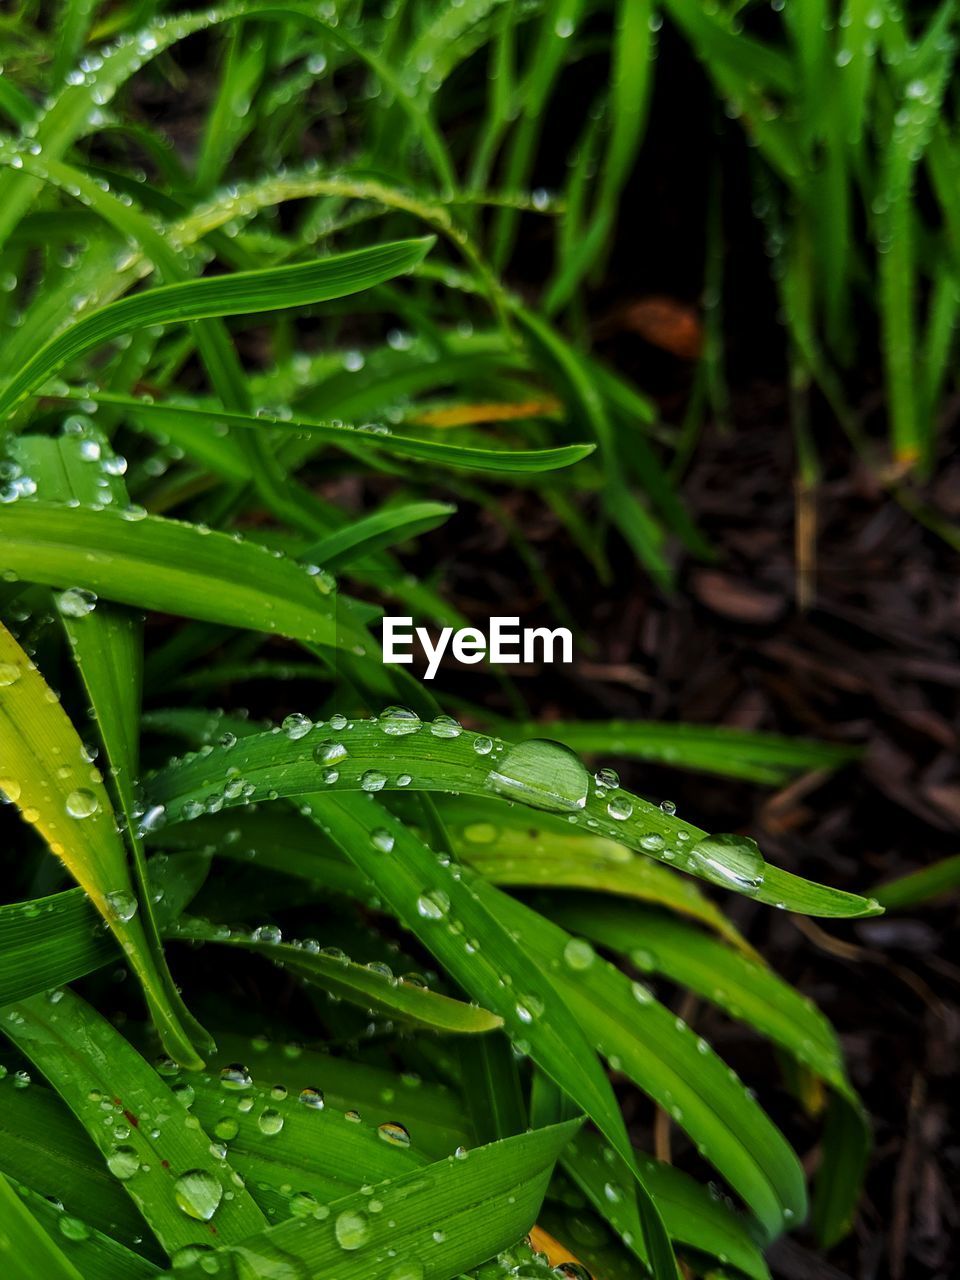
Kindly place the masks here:
MULTIPOLYGON (((0 1256, 95 1280, 662 1280, 680 1256, 760 1280, 808 1217, 804 1170, 667 984, 768 1039, 824 1117, 831 1243, 863 1111, 714 890, 879 908, 603 758, 781 782, 844 754, 454 719, 375 637, 384 607, 462 625, 402 568, 456 502, 508 522, 503 493, 538 490, 600 577, 585 511, 664 581, 667 531, 704 550, 648 402, 575 340, 652 6, 618 8, 540 308, 504 269, 557 214, 516 192, 579 0, 163 9, 0 19, 0 1256), (156 93, 183 99, 175 145, 156 93), (342 495, 371 480, 358 516, 342 495), (635 1149, 607 1068, 685 1135, 684 1169, 635 1149)), ((719 19, 667 9, 733 58, 719 19)))

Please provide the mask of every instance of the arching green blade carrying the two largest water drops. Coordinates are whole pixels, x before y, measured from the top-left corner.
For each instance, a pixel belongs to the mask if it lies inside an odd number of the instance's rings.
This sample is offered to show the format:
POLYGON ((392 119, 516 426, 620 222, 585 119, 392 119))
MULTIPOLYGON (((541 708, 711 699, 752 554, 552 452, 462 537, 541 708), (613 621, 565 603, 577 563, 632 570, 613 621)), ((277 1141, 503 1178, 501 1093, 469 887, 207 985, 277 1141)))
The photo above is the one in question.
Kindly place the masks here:
MULTIPOLYGON (((168 818, 173 819, 183 815, 183 805, 188 801, 202 805, 212 790, 223 790, 228 767, 238 769, 248 788, 252 787, 248 790, 250 801, 310 794, 321 781, 323 768, 314 759, 314 748, 323 741, 335 740, 346 748, 344 758, 338 760, 337 780, 332 783, 338 792, 364 790, 364 774, 374 771, 383 772, 379 786, 387 791, 489 796, 490 772, 498 760, 508 756, 509 745, 498 745, 495 750, 483 754, 475 749, 472 733, 456 732, 456 736, 442 736, 444 732, 447 730, 442 724, 440 735, 422 728, 403 737, 390 737, 376 721, 355 721, 351 726, 333 731, 323 724, 316 726, 312 733, 294 742, 278 741, 275 733, 251 735, 230 749, 229 758, 215 748, 202 759, 170 765, 150 781, 148 790, 152 803, 165 805, 168 818), (401 776, 410 781, 406 785, 398 783, 401 776)), ((531 787, 517 788, 511 799, 538 808, 538 785, 541 788, 539 795, 549 795, 552 791, 558 763, 557 750, 562 749, 550 749, 549 744, 544 749, 540 744, 538 756, 541 758, 541 764, 536 776, 531 774, 531 787)), ((585 792, 586 787, 584 772, 585 792)), ((608 812, 607 799, 598 796, 595 791, 586 795, 582 809, 573 812, 572 817, 577 824, 589 823, 594 835, 607 836, 636 852, 669 861, 692 874, 701 874, 696 860, 689 858, 685 850, 692 849, 707 832, 666 813, 659 805, 627 796, 626 792, 621 795, 632 806, 630 815, 623 819, 614 819, 608 812)), ((223 797, 224 808, 237 803, 239 801, 230 800, 229 796, 223 797)), ((733 877, 730 887, 736 888, 733 877)), ((769 864, 764 869, 763 881, 751 886, 749 896, 806 915, 858 916, 876 915, 881 910, 870 899, 805 881, 769 864)))

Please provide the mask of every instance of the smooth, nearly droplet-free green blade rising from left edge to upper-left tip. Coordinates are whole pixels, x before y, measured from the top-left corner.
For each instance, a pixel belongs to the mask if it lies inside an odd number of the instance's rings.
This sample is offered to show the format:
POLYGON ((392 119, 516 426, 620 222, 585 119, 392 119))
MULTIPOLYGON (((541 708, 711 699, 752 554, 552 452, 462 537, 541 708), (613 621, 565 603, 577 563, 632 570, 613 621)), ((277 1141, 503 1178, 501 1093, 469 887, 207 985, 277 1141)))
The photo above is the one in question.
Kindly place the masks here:
POLYGON ((396 241, 312 262, 184 280, 120 298, 41 347, 0 389, 0 415, 9 415, 70 360, 111 338, 148 325, 278 311, 342 298, 411 271, 431 244, 430 237, 396 241))

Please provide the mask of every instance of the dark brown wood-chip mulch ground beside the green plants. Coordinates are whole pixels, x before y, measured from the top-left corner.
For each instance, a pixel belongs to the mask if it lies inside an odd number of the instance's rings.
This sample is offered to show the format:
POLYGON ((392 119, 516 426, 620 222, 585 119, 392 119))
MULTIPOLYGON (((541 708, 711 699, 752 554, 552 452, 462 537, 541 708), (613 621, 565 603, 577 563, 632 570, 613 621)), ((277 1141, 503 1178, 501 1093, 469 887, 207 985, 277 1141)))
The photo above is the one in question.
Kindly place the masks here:
MULTIPOLYGON (((803 777, 778 792, 652 765, 621 773, 625 785, 669 796, 681 814, 710 829, 751 833, 771 860, 791 870, 865 891, 957 852, 960 558, 865 470, 851 467, 841 442, 832 456, 828 439, 818 568, 810 605, 801 612, 781 393, 750 388, 735 403, 733 420, 726 433, 705 433, 685 481, 718 562, 681 562, 680 588, 669 598, 625 552, 613 584, 599 584, 543 507, 524 495, 508 499, 585 632, 572 671, 545 668, 521 676, 520 685, 544 718, 682 719, 860 746, 861 763, 803 777)), ((960 461, 945 460, 936 492, 941 508, 957 493, 960 461)), ((444 589, 470 616, 535 618, 541 607, 549 616, 512 567, 489 517, 465 513, 444 539, 456 548, 445 562, 444 589), (493 600, 497 607, 488 609, 493 600)), ((434 544, 431 554, 438 552, 434 544)), ((461 677, 447 671, 442 678, 451 689, 461 677)), ((462 677, 463 691, 477 700, 481 678, 462 677)), ((485 696, 500 700, 489 686, 485 696)), ((785 1242, 771 1257, 774 1274, 785 1280, 955 1277, 960 1138, 951 1102, 960 968, 948 956, 956 895, 861 923, 822 925, 745 900, 731 910, 777 970, 831 1018, 874 1121, 854 1233, 828 1258, 803 1234, 785 1242)), ((797 1130, 796 1110, 785 1107, 777 1092, 773 1055, 764 1057, 755 1037, 708 1010, 696 1016, 721 1052, 742 1064, 813 1167, 817 1126, 797 1130)))

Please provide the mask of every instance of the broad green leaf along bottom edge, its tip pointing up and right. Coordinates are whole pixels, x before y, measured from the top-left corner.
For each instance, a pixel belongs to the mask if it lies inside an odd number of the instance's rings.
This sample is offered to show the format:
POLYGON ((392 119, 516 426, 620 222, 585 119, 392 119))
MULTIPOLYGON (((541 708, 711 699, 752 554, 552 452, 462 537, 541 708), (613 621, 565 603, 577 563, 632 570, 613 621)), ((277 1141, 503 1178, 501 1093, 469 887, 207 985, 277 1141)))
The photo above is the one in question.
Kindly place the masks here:
MULTIPOLYGON (((568 1121, 536 1129, 479 1147, 466 1160, 451 1156, 380 1183, 374 1188, 379 1213, 370 1212, 369 1196, 344 1196, 329 1215, 292 1219, 221 1251, 218 1275, 270 1275, 294 1260, 312 1280, 338 1280, 346 1266, 352 1280, 383 1280, 390 1270, 399 1277, 404 1265, 424 1280, 448 1280, 530 1229, 553 1165, 577 1126, 568 1121)), ((205 1274, 201 1261, 183 1270, 184 1280, 205 1274)))

